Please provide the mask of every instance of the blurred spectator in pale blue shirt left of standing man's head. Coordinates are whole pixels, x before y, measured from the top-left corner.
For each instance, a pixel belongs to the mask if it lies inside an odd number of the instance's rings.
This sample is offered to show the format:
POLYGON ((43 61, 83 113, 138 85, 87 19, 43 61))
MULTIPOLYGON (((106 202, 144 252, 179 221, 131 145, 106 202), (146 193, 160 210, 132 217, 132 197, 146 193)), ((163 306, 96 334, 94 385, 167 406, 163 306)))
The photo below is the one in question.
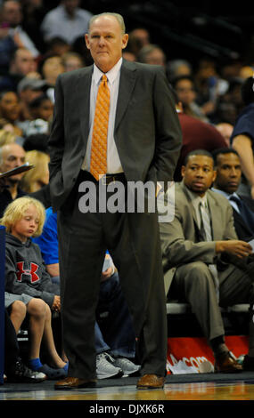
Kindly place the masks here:
POLYGON ((78 36, 84 36, 92 13, 79 8, 79 3, 79 0, 62 0, 61 4, 46 13, 41 24, 45 43, 55 36, 61 36, 73 44, 78 36))

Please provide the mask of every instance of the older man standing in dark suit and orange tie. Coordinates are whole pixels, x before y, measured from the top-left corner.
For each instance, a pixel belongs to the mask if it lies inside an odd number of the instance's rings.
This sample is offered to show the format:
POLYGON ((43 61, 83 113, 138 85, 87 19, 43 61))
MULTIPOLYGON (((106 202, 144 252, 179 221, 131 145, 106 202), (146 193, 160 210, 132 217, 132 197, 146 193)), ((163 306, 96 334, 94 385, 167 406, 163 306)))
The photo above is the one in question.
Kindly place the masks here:
POLYGON ((127 40, 119 14, 94 16, 86 34, 94 65, 62 74, 55 86, 50 188, 58 210, 63 339, 70 360, 69 377, 56 389, 95 381, 94 309, 106 249, 134 320, 142 364, 137 388, 164 385, 167 318, 158 215, 130 213, 125 204, 130 182, 172 180, 181 131, 163 69, 123 60, 127 40), (123 211, 82 207, 84 185, 94 186, 94 200, 104 187, 109 203, 115 181, 124 189, 123 211))

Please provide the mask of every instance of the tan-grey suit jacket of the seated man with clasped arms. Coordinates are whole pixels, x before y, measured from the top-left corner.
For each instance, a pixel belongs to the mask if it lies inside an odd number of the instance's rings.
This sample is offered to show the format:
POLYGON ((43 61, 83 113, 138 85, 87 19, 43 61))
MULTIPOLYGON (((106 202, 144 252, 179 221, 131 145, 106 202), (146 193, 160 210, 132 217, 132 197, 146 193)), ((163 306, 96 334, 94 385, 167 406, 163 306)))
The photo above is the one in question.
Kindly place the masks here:
MULTIPOLYGON (((166 294, 178 266, 193 261, 217 263, 220 257, 215 252, 215 241, 238 239, 234 230, 232 207, 225 197, 211 190, 207 191, 214 241, 206 242, 201 241, 196 213, 183 182, 176 183, 175 192, 175 218, 171 222, 160 222, 166 294)), ((167 194, 165 198, 168 198, 167 194)), ((224 264, 224 270, 219 272, 220 282, 232 269, 234 265, 224 264)))

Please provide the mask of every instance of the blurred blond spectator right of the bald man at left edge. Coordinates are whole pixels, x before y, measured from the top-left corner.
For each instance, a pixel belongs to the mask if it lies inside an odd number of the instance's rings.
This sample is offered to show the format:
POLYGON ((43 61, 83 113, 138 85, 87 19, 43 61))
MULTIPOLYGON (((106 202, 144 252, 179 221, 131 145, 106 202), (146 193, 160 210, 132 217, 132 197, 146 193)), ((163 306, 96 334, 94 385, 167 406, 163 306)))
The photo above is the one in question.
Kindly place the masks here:
POLYGON ((31 165, 35 165, 32 170, 24 173, 20 181, 20 188, 27 194, 42 189, 49 182, 48 163, 49 156, 45 152, 34 149, 27 152, 26 159, 31 165))

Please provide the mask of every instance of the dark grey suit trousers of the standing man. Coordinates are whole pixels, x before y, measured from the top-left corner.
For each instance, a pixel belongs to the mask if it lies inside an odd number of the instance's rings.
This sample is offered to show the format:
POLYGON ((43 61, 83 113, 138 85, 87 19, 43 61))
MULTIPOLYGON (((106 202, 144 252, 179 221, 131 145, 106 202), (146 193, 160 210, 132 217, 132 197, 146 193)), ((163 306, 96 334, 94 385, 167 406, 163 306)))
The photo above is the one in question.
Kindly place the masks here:
MULTIPOLYGON (((84 180, 86 174, 82 175, 84 180)), ((157 215, 81 213, 81 196, 74 191, 58 216, 61 317, 69 374, 95 377, 94 312, 108 249, 133 318, 141 373, 164 375, 167 315, 157 215)))

